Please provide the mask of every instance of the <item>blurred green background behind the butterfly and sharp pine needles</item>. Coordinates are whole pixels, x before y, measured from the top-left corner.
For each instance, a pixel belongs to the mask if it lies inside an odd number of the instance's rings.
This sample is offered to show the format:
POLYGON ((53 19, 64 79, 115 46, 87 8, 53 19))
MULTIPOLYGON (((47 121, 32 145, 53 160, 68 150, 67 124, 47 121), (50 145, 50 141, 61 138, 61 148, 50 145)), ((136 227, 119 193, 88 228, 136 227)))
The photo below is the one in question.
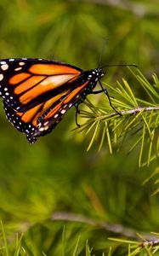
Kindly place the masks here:
MULTIPOLYGON (((102 52, 101 65, 136 63, 151 79, 159 74, 158 24, 157 0, 1 0, 0 57, 54 59, 87 70, 97 67, 102 52)), ((122 77, 131 81, 127 68, 109 68, 103 81, 116 84, 122 77)), ((141 88, 138 93, 142 96, 141 88)), ((100 104, 104 97, 98 96, 100 104)), ((128 247, 108 240, 124 232, 97 223, 121 224, 131 235, 158 231, 154 183, 142 184, 158 160, 139 168, 139 152, 127 155, 116 145, 111 155, 106 141, 100 152, 95 144, 87 152, 87 137, 71 131, 75 127, 71 109, 52 133, 31 146, 9 124, 1 103, 0 218, 10 252, 15 234, 24 233, 24 255, 73 255, 79 236, 78 255, 85 255, 86 241, 94 255, 107 255, 110 246, 113 255, 126 255, 128 247), (72 221, 54 220, 58 212, 72 221)))

